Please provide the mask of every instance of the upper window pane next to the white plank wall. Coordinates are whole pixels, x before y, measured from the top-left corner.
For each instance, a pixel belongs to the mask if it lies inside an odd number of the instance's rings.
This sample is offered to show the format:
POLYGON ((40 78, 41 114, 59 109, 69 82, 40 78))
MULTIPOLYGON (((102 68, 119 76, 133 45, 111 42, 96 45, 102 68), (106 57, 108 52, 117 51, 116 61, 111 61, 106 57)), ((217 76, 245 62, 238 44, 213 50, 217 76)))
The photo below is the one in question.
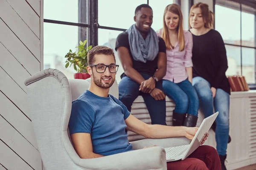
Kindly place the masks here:
POLYGON ((72 23, 88 23, 87 1, 88 0, 44 0, 44 19, 72 23))

